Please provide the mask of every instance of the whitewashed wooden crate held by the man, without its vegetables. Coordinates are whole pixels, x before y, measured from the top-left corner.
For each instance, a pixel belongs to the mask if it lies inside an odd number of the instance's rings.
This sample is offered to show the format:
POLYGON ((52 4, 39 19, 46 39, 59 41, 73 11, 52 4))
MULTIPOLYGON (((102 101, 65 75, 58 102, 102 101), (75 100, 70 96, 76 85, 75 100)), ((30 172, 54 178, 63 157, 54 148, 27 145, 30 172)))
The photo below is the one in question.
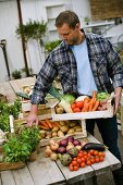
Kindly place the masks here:
POLYGON ((91 112, 78 112, 78 113, 62 113, 57 114, 54 108, 51 108, 51 115, 53 121, 63 120, 86 120, 86 119, 106 119, 113 116, 113 106, 111 100, 107 102, 107 110, 104 111, 91 111, 91 112))

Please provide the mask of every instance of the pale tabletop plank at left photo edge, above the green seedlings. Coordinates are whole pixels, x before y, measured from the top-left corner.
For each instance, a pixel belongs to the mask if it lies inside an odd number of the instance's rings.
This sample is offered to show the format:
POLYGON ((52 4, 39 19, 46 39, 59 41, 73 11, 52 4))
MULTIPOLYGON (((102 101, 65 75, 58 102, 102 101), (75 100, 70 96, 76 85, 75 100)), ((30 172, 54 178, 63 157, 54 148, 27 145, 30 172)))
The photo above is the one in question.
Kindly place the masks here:
POLYGON ((0 94, 7 96, 9 102, 13 102, 16 99, 16 95, 8 82, 0 83, 0 94))

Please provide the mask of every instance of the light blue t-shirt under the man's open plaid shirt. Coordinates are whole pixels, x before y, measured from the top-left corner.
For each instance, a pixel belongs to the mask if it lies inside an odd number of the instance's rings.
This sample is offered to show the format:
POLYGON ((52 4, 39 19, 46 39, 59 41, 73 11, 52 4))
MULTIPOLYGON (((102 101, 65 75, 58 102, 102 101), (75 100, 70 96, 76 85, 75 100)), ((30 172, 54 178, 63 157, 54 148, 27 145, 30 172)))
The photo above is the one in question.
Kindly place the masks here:
POLYGON ((71 48, 77 62, 78 92, 91 96, 93 90, 97 90, 97 86, 90 69, 86 39, 81 45, 72 46, 71 48))

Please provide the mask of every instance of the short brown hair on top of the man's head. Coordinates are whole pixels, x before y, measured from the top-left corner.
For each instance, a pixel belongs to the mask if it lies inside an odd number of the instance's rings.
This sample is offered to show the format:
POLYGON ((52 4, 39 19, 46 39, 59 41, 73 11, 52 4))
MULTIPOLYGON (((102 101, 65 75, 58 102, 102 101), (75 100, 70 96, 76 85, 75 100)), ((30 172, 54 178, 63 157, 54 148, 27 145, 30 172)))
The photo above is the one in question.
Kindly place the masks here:
POLYGON ((79 23, 77 14, 70 10, 61 12, 56 18, 57 27, 61 27, 63 24, 67 24, 70 28, 75 28, 77 23, 79 23))

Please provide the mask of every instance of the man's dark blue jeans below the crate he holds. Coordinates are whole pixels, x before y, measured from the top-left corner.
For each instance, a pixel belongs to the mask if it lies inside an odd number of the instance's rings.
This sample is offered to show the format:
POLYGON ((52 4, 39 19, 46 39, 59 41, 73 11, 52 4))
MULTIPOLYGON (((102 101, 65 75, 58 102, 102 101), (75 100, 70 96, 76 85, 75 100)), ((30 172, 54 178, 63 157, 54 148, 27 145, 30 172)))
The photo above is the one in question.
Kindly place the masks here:
POLYGON ((114 155, 120 161, 122 161, 118 147, 116 116, 110 119, 86 120, 87 132, 89 132, 91 135, 94 135, 95 123, 97 123, 103 144, 108 147, 109 151, 112 155, 114 155))

